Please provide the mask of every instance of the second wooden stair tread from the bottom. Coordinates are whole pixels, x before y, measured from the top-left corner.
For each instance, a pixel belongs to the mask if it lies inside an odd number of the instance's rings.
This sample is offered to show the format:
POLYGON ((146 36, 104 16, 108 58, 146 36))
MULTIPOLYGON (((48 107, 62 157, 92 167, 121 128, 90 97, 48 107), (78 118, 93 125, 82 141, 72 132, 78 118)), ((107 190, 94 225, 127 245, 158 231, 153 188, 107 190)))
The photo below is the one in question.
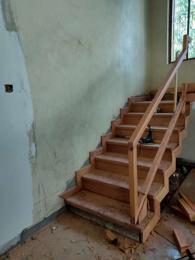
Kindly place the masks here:
MULTIPOLYGON (((82 176, 82 180, 87 180, 92 183, 101 183, 115 189, 129 192, 129 177, 125 175, 94 169, 93 171, 84 174, 82 176)), ((138 192, 141 192, 141 185, 143 183, 143 179, 137 180, 138 192)), ((154 199, 162 187, 163 185, 161 183, 153 182, 148 197, 154 199)))

